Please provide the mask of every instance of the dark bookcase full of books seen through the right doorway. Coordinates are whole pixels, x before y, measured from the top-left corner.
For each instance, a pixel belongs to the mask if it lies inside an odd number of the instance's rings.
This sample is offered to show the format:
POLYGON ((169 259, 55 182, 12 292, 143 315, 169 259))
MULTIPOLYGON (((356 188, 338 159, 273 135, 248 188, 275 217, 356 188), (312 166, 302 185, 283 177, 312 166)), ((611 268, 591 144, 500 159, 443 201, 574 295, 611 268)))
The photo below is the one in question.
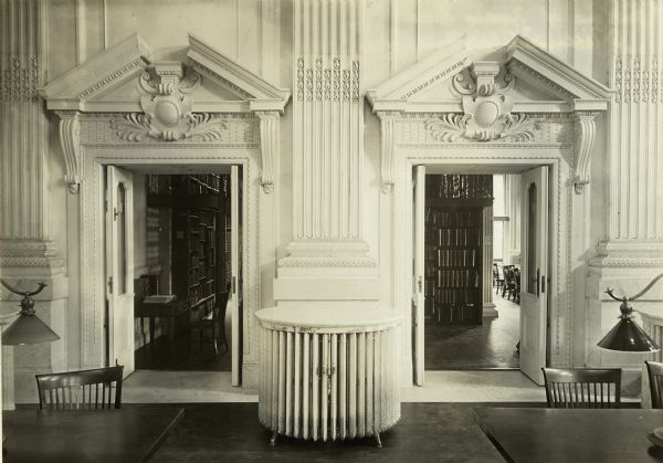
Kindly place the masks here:
POLYGON ((483 323, 483 215, 492 176, 429 175, 425 197, 425 319, 483 323))

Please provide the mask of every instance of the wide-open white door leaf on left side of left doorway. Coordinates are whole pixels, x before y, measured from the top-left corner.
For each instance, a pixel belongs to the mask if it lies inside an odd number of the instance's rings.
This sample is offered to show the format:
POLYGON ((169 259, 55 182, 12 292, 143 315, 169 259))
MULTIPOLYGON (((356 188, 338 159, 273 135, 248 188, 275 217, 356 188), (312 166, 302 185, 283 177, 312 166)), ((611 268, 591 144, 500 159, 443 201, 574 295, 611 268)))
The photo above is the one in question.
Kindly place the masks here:
POLYGON ((134 186, 131 173, 106 168, 107 362, 134 371, 134 186))

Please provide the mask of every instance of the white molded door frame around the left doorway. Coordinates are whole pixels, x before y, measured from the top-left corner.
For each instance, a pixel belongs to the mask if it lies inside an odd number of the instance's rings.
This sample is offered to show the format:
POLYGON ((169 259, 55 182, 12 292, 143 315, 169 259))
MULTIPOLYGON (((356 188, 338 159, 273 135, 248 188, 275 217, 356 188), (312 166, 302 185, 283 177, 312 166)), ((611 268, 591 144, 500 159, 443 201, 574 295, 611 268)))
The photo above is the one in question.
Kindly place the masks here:
MULTIPOLYGON (((186 146, 135 146, 85 147, 83 171, 87 181, 81 183, 81 364, 84 368, 94 368, 104 362, 104 308, 105 308, 105 222, 104 222, 104 167, 107 165, 129 168, 131 165, 241 165, 244 172, 244 194, 242 199, 242 253, 244 281, 243 317, 243 386, 257 383, 256 330, 252 314, 260 309, 261 269, 275 270, 275 239, 260 240, 261 225, 273 227, 275 214, 262 214, 260 211, 274 210, 275 194, 265 194, 261 189, 260 149, 222 148, 187 144, 186 146), (177 149, 172 149, 177 148, 177 149), (204 148, 204 149, 203 149, 204 148), (263 217, 270 215, 270 217, 263 217), (261 223, 262 222, 262 223, 261 223)), ((269 280, 269 278, 267 278, 269 280)), ((271 294, 271 292, 270 292, 271 294)))

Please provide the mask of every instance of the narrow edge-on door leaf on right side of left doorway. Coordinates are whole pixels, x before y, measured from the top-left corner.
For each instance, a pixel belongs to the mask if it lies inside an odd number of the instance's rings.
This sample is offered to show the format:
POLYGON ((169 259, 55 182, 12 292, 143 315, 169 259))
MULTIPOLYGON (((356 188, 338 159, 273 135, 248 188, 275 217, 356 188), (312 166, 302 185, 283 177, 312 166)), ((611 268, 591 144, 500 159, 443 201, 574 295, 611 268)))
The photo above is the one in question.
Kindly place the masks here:
POLYGON ((239 166, 230 170, 230 266, 231 294, 230 311, 232 314, 232 386, 240 386, 242 378, 242 171, 239 166))

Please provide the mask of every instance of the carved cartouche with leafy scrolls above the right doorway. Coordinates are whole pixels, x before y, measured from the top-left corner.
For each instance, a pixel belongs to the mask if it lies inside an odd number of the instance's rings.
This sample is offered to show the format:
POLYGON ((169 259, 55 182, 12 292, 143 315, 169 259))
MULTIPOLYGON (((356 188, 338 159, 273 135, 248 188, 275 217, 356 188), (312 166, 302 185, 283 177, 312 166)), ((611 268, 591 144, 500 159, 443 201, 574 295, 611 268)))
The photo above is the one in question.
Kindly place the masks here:
POLYGON ((528 141, 538 129, 536 120, 524 114, 512 114, 513 99, 508 93, 515 78, 506 74, 502 83, 495 82, 499 65, 476 62, 470 82, 463 73, 456 74, 452 84, 462 95, 464 114, 448 113, 425 122, 425 128, 438 141, 528 141))

